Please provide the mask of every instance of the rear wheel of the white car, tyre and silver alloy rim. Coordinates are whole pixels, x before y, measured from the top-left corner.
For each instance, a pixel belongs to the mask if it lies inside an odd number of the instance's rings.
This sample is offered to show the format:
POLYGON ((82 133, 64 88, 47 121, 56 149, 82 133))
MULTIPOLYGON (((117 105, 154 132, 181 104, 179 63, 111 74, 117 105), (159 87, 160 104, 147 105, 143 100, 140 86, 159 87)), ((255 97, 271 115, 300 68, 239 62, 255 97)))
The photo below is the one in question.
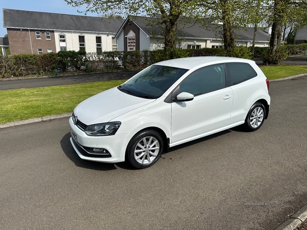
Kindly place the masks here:
POLYGON ((261 127, 266 117, 266 107, 256 102, 247 113, 244 126, 248 131, 255 131, 261 127))

